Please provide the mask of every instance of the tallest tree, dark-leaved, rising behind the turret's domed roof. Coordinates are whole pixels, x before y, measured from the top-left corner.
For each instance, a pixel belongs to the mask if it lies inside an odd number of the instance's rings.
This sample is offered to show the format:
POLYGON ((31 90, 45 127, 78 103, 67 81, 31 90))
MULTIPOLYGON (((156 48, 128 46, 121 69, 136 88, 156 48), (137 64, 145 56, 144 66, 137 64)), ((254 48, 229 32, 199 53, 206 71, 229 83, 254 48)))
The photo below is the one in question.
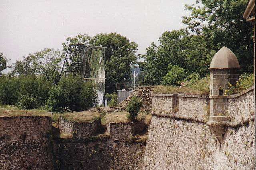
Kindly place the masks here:
POLYGON ((217 52, 223 46, 228 47, 236 54, 242 71, 251 72, 252 29, 250 23, 243 18, 247 2, 248 0, 196 0, 196 4, 185 6, 191 14, 184 16, 182 22, 193 33, 203 36, 211 50, 217 52))

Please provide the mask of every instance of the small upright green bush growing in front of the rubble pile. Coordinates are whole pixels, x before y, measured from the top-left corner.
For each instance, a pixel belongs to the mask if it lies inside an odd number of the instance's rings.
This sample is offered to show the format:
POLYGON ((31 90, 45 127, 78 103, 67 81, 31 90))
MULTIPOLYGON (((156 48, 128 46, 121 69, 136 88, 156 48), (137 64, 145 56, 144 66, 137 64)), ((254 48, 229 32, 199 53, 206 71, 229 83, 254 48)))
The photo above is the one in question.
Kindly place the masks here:
POLYGON ((126 111, 129 112, 128 118, 131 121, 134 121, 136 119, 136 116, 138 116, 138 112, 140 110, 141 105, 142 105, 142 102, 141 102, 140 98, 137 98, 135 96, 133 96, 131 98, 130 102, 128 102, 126 111))

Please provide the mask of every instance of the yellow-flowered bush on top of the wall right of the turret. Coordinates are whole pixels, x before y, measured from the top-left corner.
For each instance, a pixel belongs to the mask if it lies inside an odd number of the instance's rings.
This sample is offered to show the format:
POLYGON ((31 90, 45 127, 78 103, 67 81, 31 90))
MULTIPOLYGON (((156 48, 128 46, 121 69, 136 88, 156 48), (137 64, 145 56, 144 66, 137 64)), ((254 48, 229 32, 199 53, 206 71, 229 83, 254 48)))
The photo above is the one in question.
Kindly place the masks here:
POLYGON ((254 85, 254 74, 253 73, 241 74, 235 86, 230 84, 230 82, 228 82, 228 84, 229 84, 228 89, 225 90, 224 92, 225 96, 230 94, 240 93, 254 85))

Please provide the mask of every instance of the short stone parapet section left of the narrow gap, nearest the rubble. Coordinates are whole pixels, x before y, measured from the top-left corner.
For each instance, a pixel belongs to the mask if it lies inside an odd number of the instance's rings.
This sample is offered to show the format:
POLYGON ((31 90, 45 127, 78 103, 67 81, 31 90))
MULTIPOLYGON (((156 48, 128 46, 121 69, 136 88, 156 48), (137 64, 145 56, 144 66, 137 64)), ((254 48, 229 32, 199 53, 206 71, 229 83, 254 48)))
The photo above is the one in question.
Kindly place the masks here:
POLYGON ((178 94, 151 94, 152 110, 170 112, 177 107, 178 94))

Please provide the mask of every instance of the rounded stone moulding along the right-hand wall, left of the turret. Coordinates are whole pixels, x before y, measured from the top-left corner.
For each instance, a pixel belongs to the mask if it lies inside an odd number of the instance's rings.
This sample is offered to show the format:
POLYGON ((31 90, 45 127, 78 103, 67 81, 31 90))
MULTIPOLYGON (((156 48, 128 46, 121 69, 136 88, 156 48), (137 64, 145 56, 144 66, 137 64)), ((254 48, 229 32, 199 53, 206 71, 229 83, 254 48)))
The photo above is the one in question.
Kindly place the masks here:
POLYGON ((194 118, 191 116, 186 116, 186 115, 181 115, 181 114, 170 114, 170 113, 159 113, 159 112, 151 112, 152 115, 154 116, 159 116, 159 117, 167 117, 167 118, 173 118, 173 119, 181 119, 181 120, 188 120, 188 121, 194 121, 194 122, 200 122, 200 123, 206 123, 204 118, 194 118))

